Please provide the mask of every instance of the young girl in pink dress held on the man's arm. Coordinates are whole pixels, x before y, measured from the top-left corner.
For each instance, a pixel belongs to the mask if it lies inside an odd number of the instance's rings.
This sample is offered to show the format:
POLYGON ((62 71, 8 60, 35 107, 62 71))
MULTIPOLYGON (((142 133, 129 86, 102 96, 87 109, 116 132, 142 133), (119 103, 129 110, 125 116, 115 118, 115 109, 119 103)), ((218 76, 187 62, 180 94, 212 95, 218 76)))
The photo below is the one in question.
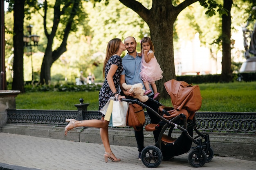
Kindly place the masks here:
POLYGON ((142 57, 140 76, 146 88, 144 95, 150 94, 152 92, 148 85, 151 84, 151 87, 154 91, 153 99, 157 100, 160 96, 160 93, 157 92, 155 81, 163 78, 163 71, 161 70, 160 65, 157 63, 157 59, 154 55, 154 46, 149 37, 144 37, 141 39, 140 49, 142 57))

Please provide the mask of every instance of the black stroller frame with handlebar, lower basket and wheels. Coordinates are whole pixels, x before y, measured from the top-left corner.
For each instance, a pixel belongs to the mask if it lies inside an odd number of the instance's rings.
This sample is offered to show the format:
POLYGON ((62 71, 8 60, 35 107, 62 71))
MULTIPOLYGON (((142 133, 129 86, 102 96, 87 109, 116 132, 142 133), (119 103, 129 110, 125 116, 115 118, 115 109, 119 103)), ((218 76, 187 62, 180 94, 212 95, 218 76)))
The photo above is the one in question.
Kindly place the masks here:
MULTIPOLYGON (((193 167, 202 167, 206 162, 211 161, 213 158, 213 149, 210 146, 210 139, 208 134, 203 134, 196 128, 195 116, 193 116, 192 120, 186 118, 186 115, 183 113, 178 114, 171 120, 168 120, 157 113, 155 110, 140 102, 137 99, 122 99, 126 102, 136 103, 141 105, 143 108, 146 108, 148 111, 155 114, 160 119, 159 124, 155 126, 155 129, 162 128, 158 142, 156 142, 155 146, 146 146, 141 151, 141 161, 148 168, 155 168, 159 166, 162 160, 167 161, 174 156, 182 155, 184 153, 189 152, 188 161, 193 167), (167 128, 169 129, 168 135, 164 135, 164 132, 167 128), (179 129, 182 131, 182 134, 178 138, 172 138, 171 134, 173 129, 179 129), (198 134, 196 137, 193 137, 193 129, 198 134), (171 139, 171 142, 162 141, 163 138, 171 139), (159 142, 160 141, 160 142, 159 142), (192 146, 192 142, 195 143, 196 146, 192 146)), ((163 106, 162 103, 149 98, 149 100, 157 103, 159 106, 163 106)), ((170 109, 174 109, 170 107, 170 109)), ((163 115, 170 116, 167 110, 162 110, 163 115)))

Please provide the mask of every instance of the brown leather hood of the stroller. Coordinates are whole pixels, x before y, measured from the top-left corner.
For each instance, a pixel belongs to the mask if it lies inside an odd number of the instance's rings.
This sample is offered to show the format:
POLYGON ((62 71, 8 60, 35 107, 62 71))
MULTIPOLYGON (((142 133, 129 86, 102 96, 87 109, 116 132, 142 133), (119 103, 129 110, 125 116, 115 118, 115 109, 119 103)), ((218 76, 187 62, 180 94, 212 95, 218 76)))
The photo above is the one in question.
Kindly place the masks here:
POLYGON ((198 85, 192 86, 184 81, 172 79, 165 82, 164 87, 171 97, 173 107, 177 111, 186 109, 190 113, 189 119, 192 119, 195 111, 201 108, 202 98, 198 85))

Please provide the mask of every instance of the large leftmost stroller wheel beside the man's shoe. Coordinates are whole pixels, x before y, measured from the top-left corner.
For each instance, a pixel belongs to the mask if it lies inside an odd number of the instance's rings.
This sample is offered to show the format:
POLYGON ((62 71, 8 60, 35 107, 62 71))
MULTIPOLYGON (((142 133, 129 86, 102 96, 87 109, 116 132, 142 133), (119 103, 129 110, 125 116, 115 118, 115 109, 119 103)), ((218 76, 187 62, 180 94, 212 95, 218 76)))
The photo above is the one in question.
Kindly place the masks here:
POLYGON ((156 146, 146 146, 141 151, 141 161, 148 168, 155 168, 162 162, 162 152, 156 146))

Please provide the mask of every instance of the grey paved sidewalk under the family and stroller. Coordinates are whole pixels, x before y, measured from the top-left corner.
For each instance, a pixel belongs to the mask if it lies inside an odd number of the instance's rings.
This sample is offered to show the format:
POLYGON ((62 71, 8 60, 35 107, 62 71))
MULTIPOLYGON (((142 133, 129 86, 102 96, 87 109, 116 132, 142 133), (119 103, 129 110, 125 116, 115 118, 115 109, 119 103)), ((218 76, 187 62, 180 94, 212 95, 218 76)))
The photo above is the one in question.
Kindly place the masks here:
MULTIPOLYGON (((138 170, 148 169, 138 160, 135 147, 111 146, 121 161, 104 161, 102 144, 0 133, 0 170, 138 170)), ((183 154, 162 161, 157 170, 255 170, 256 161, 213 157, 201 168, 193 168, 183 154)))

